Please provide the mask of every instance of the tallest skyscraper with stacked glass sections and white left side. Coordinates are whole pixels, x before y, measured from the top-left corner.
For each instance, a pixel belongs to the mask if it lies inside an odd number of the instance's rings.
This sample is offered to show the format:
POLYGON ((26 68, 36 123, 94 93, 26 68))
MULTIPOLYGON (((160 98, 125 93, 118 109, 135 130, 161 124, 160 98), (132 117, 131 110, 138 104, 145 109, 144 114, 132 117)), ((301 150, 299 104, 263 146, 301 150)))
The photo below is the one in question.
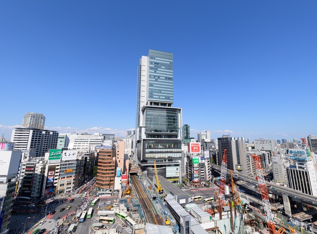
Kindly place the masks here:
POLYGON ((151 179, 158 174, 180 183, 181 108, 172 107, 173 54, 150 50, 138 68, 136 150, 134 160, 151 179))

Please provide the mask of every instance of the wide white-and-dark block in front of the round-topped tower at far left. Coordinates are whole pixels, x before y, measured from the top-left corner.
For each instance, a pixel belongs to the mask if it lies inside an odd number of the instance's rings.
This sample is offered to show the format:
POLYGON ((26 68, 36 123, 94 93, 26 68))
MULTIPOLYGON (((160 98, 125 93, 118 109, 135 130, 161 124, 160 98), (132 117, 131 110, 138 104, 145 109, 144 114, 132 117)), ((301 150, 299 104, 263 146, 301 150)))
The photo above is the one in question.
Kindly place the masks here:
POLYGON ((34 150, 35 156, 43 157, 50 149, 56 149, 59 133, 38 128, 16 128, 12 131, 11 141, 15 150, 34 150))

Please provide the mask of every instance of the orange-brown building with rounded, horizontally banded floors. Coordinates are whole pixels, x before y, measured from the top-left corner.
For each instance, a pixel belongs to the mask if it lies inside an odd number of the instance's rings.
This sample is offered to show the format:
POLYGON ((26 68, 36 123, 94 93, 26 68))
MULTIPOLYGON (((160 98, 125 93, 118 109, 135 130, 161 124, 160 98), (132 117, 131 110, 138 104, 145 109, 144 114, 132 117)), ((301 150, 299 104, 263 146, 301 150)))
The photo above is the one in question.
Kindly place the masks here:
POLYGON ((99 150, 96 187, 101 192, 113 193, 115 188, 115 150, 99 150))

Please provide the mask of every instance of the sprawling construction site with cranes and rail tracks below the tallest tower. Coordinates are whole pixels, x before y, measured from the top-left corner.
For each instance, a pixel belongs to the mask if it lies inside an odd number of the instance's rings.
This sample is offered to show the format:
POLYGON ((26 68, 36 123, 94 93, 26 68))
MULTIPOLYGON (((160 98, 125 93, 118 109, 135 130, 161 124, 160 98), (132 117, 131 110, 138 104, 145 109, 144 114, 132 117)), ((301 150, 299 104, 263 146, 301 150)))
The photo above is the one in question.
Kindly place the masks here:
MULTIPOLYGON (((278 215, 270 200, 261 160, 253 155, 257 170, 261 206, 240 197, 232 171, 227 176, 224 152, 219 187, 208 198, 190 197, 167 179, 147 177, 146 172, 132 168, 129 183, 119 205, 131 217, 135 234, 296 234, 311 233, 291 224, 278 215), (229 178, 228 178, 229 177, 229 178), (229 183, 228 183, 229 181, 229 183), (197 200, 203 203, 197 203, 197 200), (123 206, 124 204, 124 206, 123 206), (272 211, 273 210, 273 211, 272 211)), ((111 210, 111 207, 110 209, 111 210)))

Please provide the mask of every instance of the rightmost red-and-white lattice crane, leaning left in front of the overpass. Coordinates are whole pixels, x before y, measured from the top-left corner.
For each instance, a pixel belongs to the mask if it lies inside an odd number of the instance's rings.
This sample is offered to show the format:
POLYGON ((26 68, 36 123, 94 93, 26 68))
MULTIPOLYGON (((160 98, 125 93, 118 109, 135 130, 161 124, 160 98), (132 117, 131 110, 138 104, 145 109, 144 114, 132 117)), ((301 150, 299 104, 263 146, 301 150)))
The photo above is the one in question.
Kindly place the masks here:
POLYGON ((263 173, 263 168, 261 164, 261 158, 257 155, 252 155, 252 157, 254 159, 254 163, 256 166, 256 173, 257 173, 256 179, 258 180, 258 187, 260 189, 260 193, 262 197, 267 227, 269 229, 270 234, 282 234, 284 233, 285 228, 280 227, 277 231, 275 228, 274 219, 273 219, 274 216, 272 214, 270 201, 269 201, 269 194, 267 192, 267 187, 264 180, 264 173, 263 173))

